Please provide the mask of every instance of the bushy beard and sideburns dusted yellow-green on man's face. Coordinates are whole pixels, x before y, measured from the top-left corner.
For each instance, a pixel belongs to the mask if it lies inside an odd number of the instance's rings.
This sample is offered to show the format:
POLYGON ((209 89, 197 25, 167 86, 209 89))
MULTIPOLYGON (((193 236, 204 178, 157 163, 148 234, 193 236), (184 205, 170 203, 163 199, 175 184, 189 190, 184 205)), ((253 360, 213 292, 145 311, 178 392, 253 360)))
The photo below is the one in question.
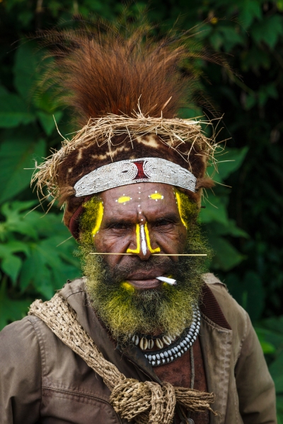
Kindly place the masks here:
MULTIPOLYGON (((187 225, 185 253, 211 252, 197 224, 197 206, 180 193, 182 218, 187 225)), ((103 257, 91 255, 94 251, 91 231, 96 225, 98 199, 86 204, 81 218, 81 259, 86 290, 94 310, 112 336, 123 345, 130 334, 180 334, 192 322, 192 305, 200 299, 204 257, 180 257, 178 264, 170 257, 151 256, 149 261, 131 257, 127 266, 110 269, 103 257), (93 205, 93 206, 92 206, 93 205), (154 290, 136 290, 126 283, 125 276, 132 269, 154 269, 162 264, 166 272, 177 280, 176 286, 163 283, 154 290)))

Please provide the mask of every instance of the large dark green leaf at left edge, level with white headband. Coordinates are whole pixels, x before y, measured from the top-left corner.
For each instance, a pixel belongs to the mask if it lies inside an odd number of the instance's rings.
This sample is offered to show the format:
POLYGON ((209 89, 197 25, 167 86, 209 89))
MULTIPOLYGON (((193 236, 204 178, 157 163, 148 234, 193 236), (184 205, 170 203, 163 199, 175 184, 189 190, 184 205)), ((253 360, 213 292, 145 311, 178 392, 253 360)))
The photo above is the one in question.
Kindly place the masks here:
POLYGON ((35 163, 45 155, 45 141, 23 135, 6 139, 0 146, 0 203, 29 186, 35 163), (26 170, 25 168, 29 168, 26 170))

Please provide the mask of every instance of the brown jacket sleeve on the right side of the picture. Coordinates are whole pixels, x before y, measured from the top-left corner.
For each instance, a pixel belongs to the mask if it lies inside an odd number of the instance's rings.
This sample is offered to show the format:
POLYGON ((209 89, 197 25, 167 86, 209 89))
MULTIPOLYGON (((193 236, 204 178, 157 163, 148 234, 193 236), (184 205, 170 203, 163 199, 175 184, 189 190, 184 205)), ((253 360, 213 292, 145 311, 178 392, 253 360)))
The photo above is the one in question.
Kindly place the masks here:
POLYGON ((245 424, 276 424, 275 385, 258 336, 246 315, 246 337, 235 367, 240 413, 245 424))

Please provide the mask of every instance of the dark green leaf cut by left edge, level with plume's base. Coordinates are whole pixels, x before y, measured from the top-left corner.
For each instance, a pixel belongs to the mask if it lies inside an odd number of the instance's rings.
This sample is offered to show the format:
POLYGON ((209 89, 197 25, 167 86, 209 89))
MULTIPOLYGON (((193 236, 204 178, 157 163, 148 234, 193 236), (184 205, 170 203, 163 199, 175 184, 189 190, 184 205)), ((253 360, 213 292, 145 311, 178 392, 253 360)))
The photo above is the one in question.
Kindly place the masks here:
POLYGON ((0 127, 11 128, 19 124, 29 124, 35 120, 35 115, 16 94, 8 93, 0 97, 0 127))

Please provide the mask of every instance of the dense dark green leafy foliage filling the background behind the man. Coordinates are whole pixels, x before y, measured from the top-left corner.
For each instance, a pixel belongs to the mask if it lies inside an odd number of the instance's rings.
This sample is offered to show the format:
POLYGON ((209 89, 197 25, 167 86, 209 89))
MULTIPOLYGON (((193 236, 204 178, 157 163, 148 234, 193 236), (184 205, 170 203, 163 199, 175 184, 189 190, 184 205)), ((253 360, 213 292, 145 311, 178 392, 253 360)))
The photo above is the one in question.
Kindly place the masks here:
MULTIPOLYGON (((132 12, 146 5, 138 1, 132 12)), ((43 52, 25 38, 60 27, 76 13, 112 19, 122 7, 115 0, 0 1, 0 328, 21 319, 35 298, 50 298, 81 273, 62 213, 31 211, 38 201, 27 168, 59 146, 53 115, 62 134, 74 129, 68 111, 59 110, 50 95, 30 95, 43 52)), ((152 0, 149 17, 168 28, 178 18, 180 29, 213 18, 199 40, 224 52, 241 74, 231 79, 218 66, 200 62, 207 76, 202 89, 224 112, 221 138, 229 138, 214 175, 219 184, 208 194, 201 219, 215 251, 212 271, 257 329, 283 423, 283 1, 152 0)), ((182 113, 203 112, 196 107, 182 113)))

